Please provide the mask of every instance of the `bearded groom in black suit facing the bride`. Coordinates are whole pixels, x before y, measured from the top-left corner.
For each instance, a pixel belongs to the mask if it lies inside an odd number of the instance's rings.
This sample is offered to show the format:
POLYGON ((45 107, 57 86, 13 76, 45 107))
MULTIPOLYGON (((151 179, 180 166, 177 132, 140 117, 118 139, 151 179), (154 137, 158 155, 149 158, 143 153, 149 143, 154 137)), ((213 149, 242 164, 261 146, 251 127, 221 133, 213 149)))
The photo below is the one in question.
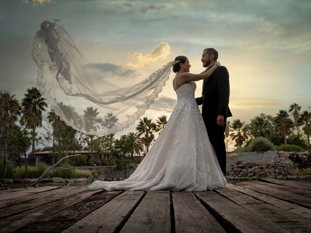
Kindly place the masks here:
MULTIPOLYGON (((214 65, 218 52, 213 48, 203 51, 201 61, 206 70, 214 65)), ((208 80, 203 81, 202 97, 196 98, 198 105, 202 104, 202 116, 209 141, 212 144, 218 163, 225 175, 225 126, 226 118, 232 116, 229 109, 229 73, 226 67, 219 66, 208 80)))

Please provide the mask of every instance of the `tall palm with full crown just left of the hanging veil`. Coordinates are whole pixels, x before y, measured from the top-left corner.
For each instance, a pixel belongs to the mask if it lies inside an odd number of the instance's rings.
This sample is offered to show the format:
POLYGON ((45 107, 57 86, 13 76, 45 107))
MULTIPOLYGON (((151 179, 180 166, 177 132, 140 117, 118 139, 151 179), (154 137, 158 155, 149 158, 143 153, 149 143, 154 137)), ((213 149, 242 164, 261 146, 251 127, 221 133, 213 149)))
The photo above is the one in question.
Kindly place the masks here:
MULTIPOLYGON (((27 89, 25 98, 22 100, 22 112, 24 115, 33 118, 33 132, 32 132, 32 155, 35 157, 35 129, 42 127, 42 111, 48 107, 46 101, 42 98, 39 90, 35 87, 27 89)), ((38 161, 36 161, 37 164, 38 161)))

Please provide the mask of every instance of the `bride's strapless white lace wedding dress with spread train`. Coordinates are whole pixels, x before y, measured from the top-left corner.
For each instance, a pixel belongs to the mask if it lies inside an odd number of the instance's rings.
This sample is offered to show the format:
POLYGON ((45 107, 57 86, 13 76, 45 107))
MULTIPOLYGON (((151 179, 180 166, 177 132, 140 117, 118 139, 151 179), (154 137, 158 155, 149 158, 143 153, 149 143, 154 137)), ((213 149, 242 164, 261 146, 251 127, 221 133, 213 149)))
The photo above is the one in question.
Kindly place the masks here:
POLYGON ((215 151, 194 98, 196 84, 177 90, 177 104, 163 131, 124 181, 95 181, 90 189, 206 191, 225 187, 215 151))

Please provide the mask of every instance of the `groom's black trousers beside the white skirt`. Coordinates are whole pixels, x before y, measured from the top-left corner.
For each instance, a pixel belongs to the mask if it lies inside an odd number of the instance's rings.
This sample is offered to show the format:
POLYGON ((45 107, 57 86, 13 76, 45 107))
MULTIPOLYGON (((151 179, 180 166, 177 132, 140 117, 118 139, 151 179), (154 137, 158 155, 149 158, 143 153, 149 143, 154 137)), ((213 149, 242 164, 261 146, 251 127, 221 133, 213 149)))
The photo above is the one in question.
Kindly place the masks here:
POLYGON ((204 119, 205 126, 207 128, 207 134, 208 134, 209 141, 212 144, 216 152, 218 163, 225 175, 226 174, 225 126, 226 126, 227 117, 224 118, 225 125, 218 126, 217 116, 206 114, 206 115, 203 115, 203 119, 204 119))

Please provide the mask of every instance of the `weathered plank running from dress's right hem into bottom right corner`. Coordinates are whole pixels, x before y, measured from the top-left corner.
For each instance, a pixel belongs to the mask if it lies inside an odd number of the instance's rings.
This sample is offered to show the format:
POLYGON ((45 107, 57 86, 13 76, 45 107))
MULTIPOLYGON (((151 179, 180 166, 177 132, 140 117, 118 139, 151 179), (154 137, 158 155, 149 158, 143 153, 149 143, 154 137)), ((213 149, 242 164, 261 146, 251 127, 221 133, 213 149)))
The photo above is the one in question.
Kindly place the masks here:
POLYGON ((226 188, 215 189, 215 192, 253 212, 261 219, 266 219, 276 224, 284 231, 311 232, 311 222, 306 222, 305 218, 284 212, 281 208, 242 194, 231 188, 230 185, 226 188))

